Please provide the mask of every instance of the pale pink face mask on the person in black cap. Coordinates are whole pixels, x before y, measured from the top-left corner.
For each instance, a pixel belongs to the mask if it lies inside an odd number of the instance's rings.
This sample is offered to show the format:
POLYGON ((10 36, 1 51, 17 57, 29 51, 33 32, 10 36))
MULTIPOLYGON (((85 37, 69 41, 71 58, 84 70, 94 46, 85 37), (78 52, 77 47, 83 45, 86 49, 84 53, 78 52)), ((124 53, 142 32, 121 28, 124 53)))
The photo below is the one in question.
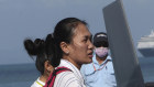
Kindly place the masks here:
POLYGON ((100 58, 103 58, 108 55, 108 47, 96 47, 95 52, 100 58))

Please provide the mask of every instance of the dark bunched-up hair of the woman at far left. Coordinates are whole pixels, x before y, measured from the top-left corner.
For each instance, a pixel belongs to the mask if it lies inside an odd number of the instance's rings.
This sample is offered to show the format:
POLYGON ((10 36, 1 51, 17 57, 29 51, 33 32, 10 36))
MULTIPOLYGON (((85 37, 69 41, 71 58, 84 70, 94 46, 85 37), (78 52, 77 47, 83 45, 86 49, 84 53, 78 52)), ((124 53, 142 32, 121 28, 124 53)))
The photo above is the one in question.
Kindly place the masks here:
POLYGON ((30 56, 36 56, 35 66, 41 74, 44 74, 44 63, 50 61, 52 66, 56 66, 54 63, 54 40, 51 34, 46 36, 46 40, 36 39, 24 41, 24 47, 30 56))

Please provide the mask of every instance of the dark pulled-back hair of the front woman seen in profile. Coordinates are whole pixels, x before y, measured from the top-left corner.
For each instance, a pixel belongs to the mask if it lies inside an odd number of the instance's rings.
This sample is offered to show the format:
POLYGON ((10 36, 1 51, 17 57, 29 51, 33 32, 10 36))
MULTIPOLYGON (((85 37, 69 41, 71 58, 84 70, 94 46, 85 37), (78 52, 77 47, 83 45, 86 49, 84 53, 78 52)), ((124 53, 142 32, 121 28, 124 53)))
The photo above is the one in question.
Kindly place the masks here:
POLYGON ((81 21, 77 18, 66 18, 56 24, 54 30, 54 40, 56 45, 56 53, 58 54, 55 54, 56 56, 54 58, 56 58, 58 63, 63 57, 63 52, 59 46, 61 42, 66 42, 69 44, 72 42, 74 31, 79 23, 87 25, 85 21, 81 21))

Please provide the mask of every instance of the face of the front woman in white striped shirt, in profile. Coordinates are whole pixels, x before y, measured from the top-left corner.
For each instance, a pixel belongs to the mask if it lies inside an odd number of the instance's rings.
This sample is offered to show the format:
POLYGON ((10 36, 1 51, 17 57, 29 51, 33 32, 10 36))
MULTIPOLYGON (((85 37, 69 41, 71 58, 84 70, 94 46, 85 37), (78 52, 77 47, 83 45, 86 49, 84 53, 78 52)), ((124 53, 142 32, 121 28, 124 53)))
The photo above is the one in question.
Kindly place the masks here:
POLYGON ((85 24, 79 23, 74 31, 73 40, 69 44, 69 58, 73 64, 81 65, 92 62, 91 34, 85 24))

